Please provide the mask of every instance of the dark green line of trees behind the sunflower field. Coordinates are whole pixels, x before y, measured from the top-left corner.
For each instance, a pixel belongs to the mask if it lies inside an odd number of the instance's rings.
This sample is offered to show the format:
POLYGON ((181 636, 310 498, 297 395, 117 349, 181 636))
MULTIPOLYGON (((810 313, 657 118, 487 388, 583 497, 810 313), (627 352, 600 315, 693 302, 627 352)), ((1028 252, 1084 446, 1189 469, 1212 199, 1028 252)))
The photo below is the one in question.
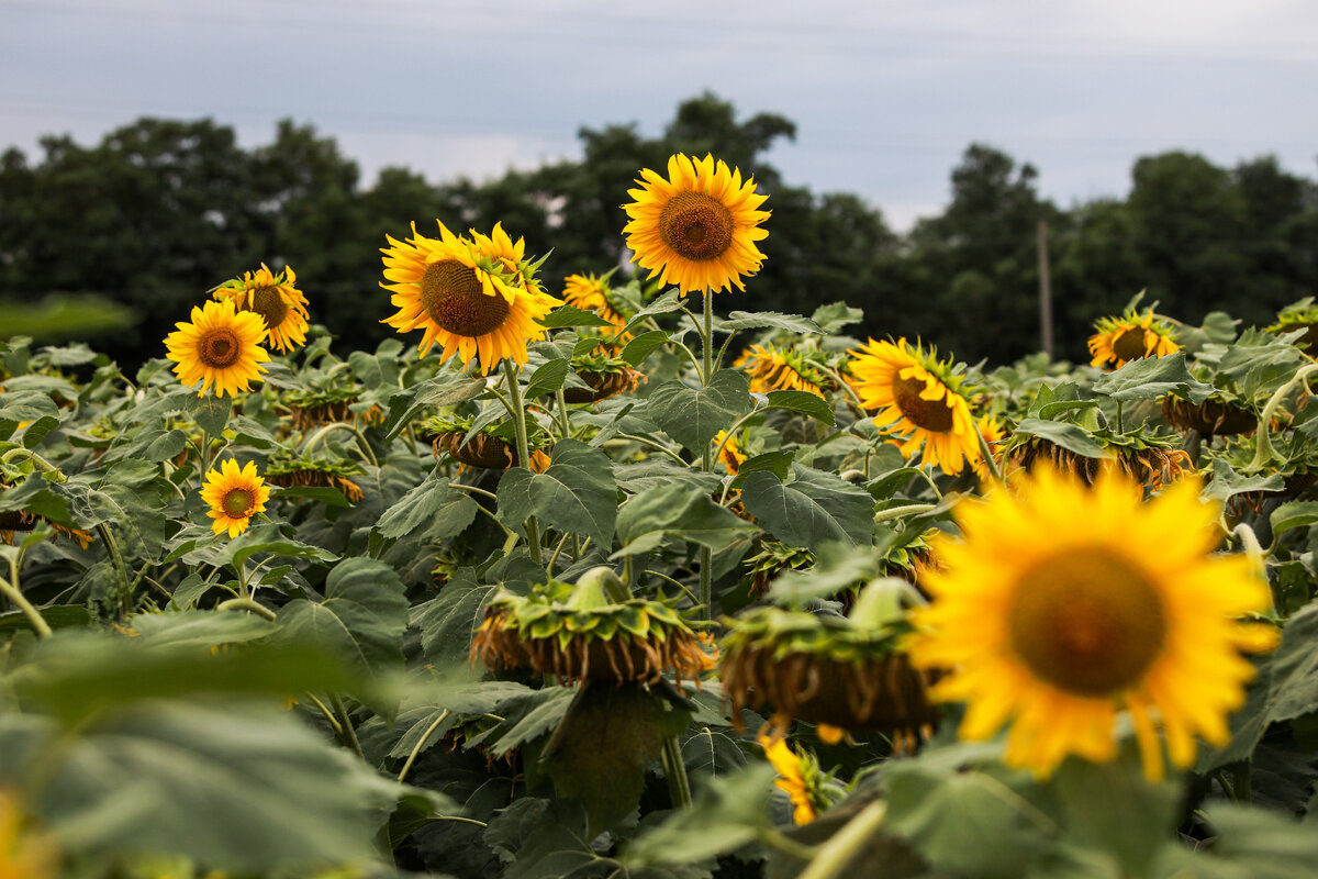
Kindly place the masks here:
POLYGON ((370 186, 332 137, 289 120, 254 149, 210 119, 140 119, 95 146, 49 136, 40 161, 0 156, 0 299, 94 293, 130 306, 132 329, 94 341, 128 365, 159 356, 215 285, 262 261, 289 264, 312 319, 347 348, 370 348, 391 335, 377 323, 389 312, 385 233, 406 236, 413 221, 428 232, 435 217, 455 231, 502 221, 529 253, 552 248, 540 277, 559 293, 567 274, 625 262, 626 190, 675 152, 712 152, 770 194, 767 262, 730 307, 809 314, 841 299, 865 310, 859 332, 919 336, 962 360, 1040 348, 1040 221, 1060 358, 1083 357, 1094 318, 1140 290, 1185 320, 1222 308, 1257 324, 1318 294, 1318 182, 1272 156, 1235 167, 1147 156, 1127 198, 1060 207, 1040 198, 1032 165, 973 144, 942 213, 898 235, 857 195, 787 183, 764 156, 795 133, 780 115, 738 119, 706 92, 659 137, 634 124, 580 129, 580 159, 484 182, 386 167, 370 186))

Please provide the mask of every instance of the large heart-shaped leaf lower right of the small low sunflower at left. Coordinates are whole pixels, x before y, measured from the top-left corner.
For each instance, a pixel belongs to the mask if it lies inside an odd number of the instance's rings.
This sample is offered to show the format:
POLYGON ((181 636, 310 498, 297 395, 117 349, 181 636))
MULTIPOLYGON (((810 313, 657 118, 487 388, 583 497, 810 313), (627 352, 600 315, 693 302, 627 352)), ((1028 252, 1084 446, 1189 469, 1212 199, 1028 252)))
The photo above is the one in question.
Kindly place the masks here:
POLYGON ((290 601, 279 609, 278 622, 287 638, 323 644, 349 668, 380 681, 402 669, 407 610, 403 584, 394 569, 356 556, 330 572, 324 601, 290 601))

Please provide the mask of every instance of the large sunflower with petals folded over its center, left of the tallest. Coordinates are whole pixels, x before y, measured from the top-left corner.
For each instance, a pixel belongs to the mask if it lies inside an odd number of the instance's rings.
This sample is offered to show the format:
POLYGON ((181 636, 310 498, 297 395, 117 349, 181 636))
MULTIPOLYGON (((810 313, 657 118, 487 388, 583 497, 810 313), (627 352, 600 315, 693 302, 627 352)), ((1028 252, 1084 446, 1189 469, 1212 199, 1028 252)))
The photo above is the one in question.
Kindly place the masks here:
MULTIPOLYGON (((438 223, 438 220, 436 220, 438 223)), ((526 244, 496 224, 489 236, 459 237, 439 223, 439 237, 416 232, 381 248, 385 278, 398 314, 381 320, 398 332, 424 329, 422 356, 439 343, 440 362, 457 354, 463 365, 480 361, 488 374, 505 357, 526 362, 526 344, 544 336, 536 323, 559 299, 535 281, 535 265, 525 260, 526 244)))

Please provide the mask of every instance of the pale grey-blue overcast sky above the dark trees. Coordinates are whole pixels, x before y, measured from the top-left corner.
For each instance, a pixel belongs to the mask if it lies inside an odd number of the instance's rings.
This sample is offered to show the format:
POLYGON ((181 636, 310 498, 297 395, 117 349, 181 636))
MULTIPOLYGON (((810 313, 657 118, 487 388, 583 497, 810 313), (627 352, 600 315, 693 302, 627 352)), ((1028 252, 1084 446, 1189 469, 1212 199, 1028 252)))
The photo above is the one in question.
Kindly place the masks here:
POLYGON ((577 156, 581 125, 658 134, 704 90, 795 121, 771 154, 788 182, 898 228, 940 210, 971 141, 1062 206, 1166 149, 1318 177, 1314 0, 0 0, 0 145, 34 158, 142 115, 246 145, 290 116, 368 183, 481 178, 577 156))

